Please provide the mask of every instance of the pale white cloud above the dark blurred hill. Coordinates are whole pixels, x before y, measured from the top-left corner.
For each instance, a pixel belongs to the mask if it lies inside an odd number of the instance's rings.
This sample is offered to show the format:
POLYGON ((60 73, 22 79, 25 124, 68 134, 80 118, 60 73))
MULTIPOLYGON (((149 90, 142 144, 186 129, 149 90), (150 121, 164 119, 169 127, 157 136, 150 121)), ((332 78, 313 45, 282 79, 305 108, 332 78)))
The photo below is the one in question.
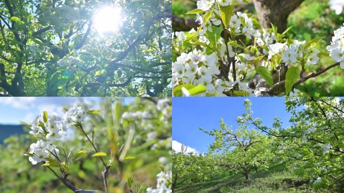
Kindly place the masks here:
POLYGON ((33 107, 34 97, 4 97, 0 103, 10 105, 16 109, 29 109, 33 107))

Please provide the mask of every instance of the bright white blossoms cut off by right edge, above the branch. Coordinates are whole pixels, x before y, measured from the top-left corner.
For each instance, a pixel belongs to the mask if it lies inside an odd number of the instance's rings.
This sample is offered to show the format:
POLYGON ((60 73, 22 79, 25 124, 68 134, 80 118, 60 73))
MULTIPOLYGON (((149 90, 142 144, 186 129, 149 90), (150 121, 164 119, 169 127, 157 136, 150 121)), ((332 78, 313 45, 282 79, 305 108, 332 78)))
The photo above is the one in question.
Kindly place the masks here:
POLYGON ((326 49, 334 61, 340 62, 340 68, 344 69, 344 26, 334 31, 331 45, 326 49))

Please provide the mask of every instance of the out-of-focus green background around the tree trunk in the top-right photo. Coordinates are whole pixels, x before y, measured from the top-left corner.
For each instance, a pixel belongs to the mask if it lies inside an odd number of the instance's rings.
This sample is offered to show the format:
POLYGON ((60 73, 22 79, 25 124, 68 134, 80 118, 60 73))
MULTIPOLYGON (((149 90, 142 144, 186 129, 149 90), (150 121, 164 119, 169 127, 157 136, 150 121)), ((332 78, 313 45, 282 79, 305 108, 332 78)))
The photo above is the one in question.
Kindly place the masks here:
MULTIPOLYGON (((186 21, 194 19, 195 15, 185 15, 185 13, 197 9, 196 0, 173 0, 172 2, 174 16, 183 18, 186 21)), ((247 5, 236 2, 234 8, 240 12, 247 10, 257 19, 251 0, 248 1, 247 5)), ((326 51, 326 46, 330 44, 333 31, 342 26, 343 23, 344 12, 336 15, 333 10, 329 9, 328 0, 305 0, 289 15, 287 27, 292 26, 292 29, 287 33, 287 36, 299 41, 310 41, 316 37, 325 37, 316 48, 320 51, 326 51)), ((317 65, 307 66, 306 70, 317 71, 333 63, 335 62, 329 56, 323 56, 317 65)), ((332 68, 326 73, 296 86, 296 88, 312 96, 342 96, 344 95, 342 82, 344 82, 344 71, 340 68, 332 68)))

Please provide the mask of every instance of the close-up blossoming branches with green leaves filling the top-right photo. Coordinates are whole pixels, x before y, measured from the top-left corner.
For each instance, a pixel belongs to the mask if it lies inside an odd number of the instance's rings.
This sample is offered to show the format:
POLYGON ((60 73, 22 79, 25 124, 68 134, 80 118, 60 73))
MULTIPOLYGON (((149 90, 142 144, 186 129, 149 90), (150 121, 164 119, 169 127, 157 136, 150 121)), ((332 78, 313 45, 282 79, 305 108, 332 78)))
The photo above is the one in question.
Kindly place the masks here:
POLYGON ((305 42, 288 38, 290 28, 281 33, 273 24, 263 29, 250 14, 234 12, 233 2, 241 1, 200 0, 198 9, 187 13, 196 14, 200 26, 175 33, 175 96, 297 95, 295 85, 331 68, 344 68, 344 27, 334 32, 328 52, 319 51, 315 46, 322 37, 305 42), (307 65, 327 55, 336 63, 305 75, 307 65), (264 81, 252 78, 255 73, 264 81))

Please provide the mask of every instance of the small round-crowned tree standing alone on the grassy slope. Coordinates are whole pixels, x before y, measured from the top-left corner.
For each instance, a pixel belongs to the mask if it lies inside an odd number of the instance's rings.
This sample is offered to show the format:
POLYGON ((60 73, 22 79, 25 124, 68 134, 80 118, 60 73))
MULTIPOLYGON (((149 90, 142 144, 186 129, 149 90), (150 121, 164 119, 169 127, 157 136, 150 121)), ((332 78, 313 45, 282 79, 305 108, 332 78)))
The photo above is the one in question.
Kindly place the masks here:
POLYGON ((209 151, 215 154, 215 164, 218 166, 240 173, 249 180, 250 171, 263 167, 268 168, 271 159, 271 151, 268 148, 270 140, 259 131, 249 129, 244 119, 238 118, 241 124, 232 131, 223 120, 220 120, 221 129, 204 131, 215 137, 210 145, 209 151))

